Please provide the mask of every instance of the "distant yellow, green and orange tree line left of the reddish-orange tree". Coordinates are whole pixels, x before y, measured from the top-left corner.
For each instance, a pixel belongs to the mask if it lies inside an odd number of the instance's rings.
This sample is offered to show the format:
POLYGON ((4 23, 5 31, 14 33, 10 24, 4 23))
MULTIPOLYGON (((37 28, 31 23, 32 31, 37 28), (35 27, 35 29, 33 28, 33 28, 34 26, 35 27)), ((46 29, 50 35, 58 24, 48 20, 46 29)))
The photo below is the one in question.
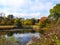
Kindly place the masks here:
POLYGON ((9 14, 7 17, 2 16, 0 14, 0 25, 15 25, 15 26, 23 26, 23 25, 34 25, 38 22, 38 19, 24 19, 24 18, 15 18, 14 15, 9 14))

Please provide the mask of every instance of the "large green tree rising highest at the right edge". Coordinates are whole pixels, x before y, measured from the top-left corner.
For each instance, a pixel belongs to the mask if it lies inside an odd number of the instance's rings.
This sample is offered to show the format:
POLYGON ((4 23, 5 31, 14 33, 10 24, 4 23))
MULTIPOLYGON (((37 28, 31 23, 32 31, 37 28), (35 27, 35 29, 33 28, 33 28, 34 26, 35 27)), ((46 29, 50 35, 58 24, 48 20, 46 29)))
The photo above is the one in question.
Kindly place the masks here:
POLYGON ((50 15, 48 17, 53 20, 60 18, 60 4, 56 4, 53 9, 50 9, 50 15))

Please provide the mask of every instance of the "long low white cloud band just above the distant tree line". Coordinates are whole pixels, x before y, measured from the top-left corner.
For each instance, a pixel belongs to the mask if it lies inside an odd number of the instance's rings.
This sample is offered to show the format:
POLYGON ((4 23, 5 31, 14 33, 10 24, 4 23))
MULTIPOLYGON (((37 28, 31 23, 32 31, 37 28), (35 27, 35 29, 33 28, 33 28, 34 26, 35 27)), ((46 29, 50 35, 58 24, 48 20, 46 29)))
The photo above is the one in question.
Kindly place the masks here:
POLYGON ((16 13, 16 12, 10 13, 10 12, 8 12, 6 10, 4 10, 4 12, 6 14, 5 16, 8 16, 8 14, 12 14, 15 17, 22 17, 22 18, 37 18, 38 19, 38 18, 41 17, 40 12, 38 12, 38 13, 16 13))

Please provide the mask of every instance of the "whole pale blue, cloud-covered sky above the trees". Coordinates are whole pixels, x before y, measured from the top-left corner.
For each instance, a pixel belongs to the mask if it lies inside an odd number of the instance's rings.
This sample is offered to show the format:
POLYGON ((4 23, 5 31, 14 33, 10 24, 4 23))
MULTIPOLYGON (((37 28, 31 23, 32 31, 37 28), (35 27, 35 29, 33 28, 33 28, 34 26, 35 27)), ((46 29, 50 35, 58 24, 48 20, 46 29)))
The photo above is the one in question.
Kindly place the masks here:
POLYGON ((49 10, 60 0, 0 0, 0 13, 15 17, 41 18, 49 15, 49 10))

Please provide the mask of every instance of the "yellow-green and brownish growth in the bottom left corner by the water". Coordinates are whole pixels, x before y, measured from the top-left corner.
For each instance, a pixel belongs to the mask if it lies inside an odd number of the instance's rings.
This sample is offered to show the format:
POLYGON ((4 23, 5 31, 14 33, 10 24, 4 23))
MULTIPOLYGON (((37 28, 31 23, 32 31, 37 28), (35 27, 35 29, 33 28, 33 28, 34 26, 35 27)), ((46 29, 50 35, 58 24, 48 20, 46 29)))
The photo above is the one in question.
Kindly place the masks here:
POLYGON ((0 45, 17 45, 17 42, 14 37, 6 38, 5 35, 1 35, 0 45))

